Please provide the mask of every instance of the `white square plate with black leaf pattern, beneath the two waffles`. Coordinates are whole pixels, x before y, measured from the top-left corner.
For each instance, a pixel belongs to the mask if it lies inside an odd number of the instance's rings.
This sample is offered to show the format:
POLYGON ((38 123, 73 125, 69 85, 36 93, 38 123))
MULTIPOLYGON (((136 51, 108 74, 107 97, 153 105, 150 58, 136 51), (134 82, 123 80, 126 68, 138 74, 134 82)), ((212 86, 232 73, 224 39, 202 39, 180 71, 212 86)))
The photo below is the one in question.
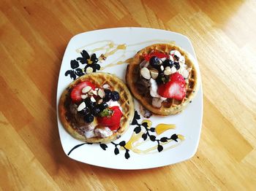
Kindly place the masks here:
MULTIPOLYGON (((109 28, 89 31, 72 37, 67 45, 61 63, 57 90, 57 111, 62 91, 73 80, 70 74, 65 75, 66 71, 71 71, 74 75, 76 69, 83 69, 84 66, 86 66, 79 64, 78 67, 72 69, 70 65, 70 61, 81 57, 80 52, 82 50, 89 52, 89 55, 95 52, 97 58, 99 58, 99 55, 102 53, 105 54, 109 52, 108 58, 102 63, 99 63, 102 67, 102 71, 116 74, 125 82, 124 77, 128 64, 125 61, 127 61, 127 59, 132 58, 138 50, 148 45, 170 42, 175 42, 178 46, 187 50, 187 52, 194 56, 195 64, 199 71, 195 51, 190 40, 187 36, 175 32, 153 28, 109 28), (113 64, 113 66, 111 64, 113 64)), ((75 74, 75 77, 78 76, 75 74)), ((155 132, 149 131, 148 133, 150 133, 150 135, 156 137, 156 141, 151 141, 149 138, 143 141, 141 138, 139 140, 141 142, 140 146, 133 149, 124 149, 119 143, 124 143, 124 141, 127 143, 138 125, 130 125, 129 130, 113 143, 84 144, 81 141, 73 139, 72 136, 69 136, 69 133, 67 133, 61 125, 58 114, 59 135, 64 152, 68 157, 83 163, 117 169, 155 168, 188 160, 195 155, 202 126, 203 90, 201 82, 199 82, 199 85, 200 88, 197 95, 181 114, 168 117, 157 117, 153 115, 149 119, 152 122, 151 128, 156 128, 159 123, 167 123, 175 124, 175 129, 166 130, 158 136, 155 132), (176 141, 170 139, 171 137, 175 138, 175 135, 182 135, 185 139, 176 139, 176 141), (163 137, 167 137, 168 140, 170 139, 167 141, 167 144, 166 142, 157 141, 163 137), (157 149, 159 144, 163 147, 163 150, 160 152, 157 149), (116 155, 116 152, 119 152, 118 155, 116 155)), ((135 110, 138 111, 140 115, 140 119, 137 121, 141 124, 142 121, 146 119, 140 114, 137 101, 135 101, 135 110)), ((143 126, 140 127, 142 130, 145 130, 143 126)), ((181 138, 181 136, 179 136, 179 138, 181 138)))

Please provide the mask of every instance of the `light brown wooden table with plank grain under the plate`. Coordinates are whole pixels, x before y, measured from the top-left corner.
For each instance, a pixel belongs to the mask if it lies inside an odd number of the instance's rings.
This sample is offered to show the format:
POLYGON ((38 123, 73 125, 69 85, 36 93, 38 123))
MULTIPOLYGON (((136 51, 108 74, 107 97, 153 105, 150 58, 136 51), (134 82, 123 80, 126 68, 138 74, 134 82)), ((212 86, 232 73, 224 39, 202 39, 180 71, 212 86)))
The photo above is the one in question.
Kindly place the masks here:
POLYGON ((256 1, 1 1, 1 190, 255 190, 256 1), (118 171, 67 157, 56 87, 75 34, 162 28, 191 39, 203 80, 197 153, 176 165, 118 171))

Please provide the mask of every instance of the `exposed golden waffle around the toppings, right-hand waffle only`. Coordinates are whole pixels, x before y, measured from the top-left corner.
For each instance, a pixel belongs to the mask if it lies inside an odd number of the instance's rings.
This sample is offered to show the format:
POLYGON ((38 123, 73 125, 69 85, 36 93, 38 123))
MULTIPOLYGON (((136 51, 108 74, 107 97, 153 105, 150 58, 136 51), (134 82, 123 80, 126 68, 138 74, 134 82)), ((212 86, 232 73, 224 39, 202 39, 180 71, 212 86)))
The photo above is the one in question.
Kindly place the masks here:
POLYGON ((145 47, 143 50, 140 50, 132 62, 127 66, 127 74, 126 81, 131 90, 132 94, 135 98, 140 101, 146 109, 154 114, 159 115, 170 115, 177 114, 181 112, 192 98, 194 98, 198 89, 198 74, 197 69, 195 68, 195 63, 193 63, 191 59, 191 55, 185 52, 181 47, 177 47, 174 44, 153 44, 151 46, 145 47), (152 97, 148 90, 141 90, 138 85, 140 81, 140 63, 144 60, 143 55, 152 52, 153 50, 157 50, 158 52, 169 53, 170 50, 178 50, 181 52, 181 55, 184 56, 187 66, 191 67, 192 70, 189 72, 189 83, 187 83, 187 94, 182 101, 178 101, 174 98, 167 98, 166 101, 162 102, 162 106, 160 108, 156 108, 152 106, 152 97))

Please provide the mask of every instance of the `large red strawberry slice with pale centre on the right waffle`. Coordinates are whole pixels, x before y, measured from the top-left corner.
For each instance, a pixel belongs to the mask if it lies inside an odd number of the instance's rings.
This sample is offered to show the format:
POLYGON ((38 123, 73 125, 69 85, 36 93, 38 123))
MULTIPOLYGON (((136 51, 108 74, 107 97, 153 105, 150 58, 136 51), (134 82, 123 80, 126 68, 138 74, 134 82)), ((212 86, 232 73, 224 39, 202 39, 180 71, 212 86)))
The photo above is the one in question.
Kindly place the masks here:
POLYGON ((182 100, 186 95, 186 82, 178 72, 170 76, 170 82, 159 85, 158 94, 164 98, 182 100))

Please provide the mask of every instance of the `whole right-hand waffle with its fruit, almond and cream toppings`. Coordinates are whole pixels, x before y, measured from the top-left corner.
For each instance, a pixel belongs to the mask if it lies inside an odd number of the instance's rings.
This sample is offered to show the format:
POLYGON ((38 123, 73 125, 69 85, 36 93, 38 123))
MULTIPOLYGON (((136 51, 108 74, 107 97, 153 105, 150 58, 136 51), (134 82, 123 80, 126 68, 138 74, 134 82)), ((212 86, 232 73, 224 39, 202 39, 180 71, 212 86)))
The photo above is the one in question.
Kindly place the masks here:
POLYGON ((177 114, 192 101, 198 77, 191 55, 174 44, 140 50, 127 66, 129 90, 150 112, 177 114))

